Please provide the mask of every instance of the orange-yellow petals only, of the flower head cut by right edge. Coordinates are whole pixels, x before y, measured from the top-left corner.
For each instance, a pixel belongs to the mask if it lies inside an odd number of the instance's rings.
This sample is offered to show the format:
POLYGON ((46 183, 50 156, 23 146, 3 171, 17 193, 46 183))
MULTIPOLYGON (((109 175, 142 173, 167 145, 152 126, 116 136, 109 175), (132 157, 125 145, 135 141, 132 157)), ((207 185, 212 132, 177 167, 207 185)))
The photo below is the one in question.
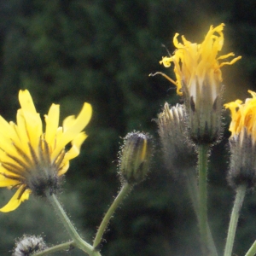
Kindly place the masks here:
POLYGON ((253 144, 256 142, 256 92, 248 90, 253 98, 247 98, 244 103, 240 100, 224 104, 225 108, 230 108, 231 123, 230 131, 231 137, 241 136, 241 142, 244 133, 252 137, 253 144))

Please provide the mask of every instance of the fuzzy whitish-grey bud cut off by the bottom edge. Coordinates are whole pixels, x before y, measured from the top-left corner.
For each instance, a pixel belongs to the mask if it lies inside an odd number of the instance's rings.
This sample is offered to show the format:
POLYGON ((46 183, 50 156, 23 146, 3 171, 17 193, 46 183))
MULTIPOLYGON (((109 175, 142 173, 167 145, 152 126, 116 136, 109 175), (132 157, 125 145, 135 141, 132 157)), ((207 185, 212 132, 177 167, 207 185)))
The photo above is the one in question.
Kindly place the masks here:
POLYGON ((29 256, 46 249, 46 244, 40 236, 23 236, 16 242, 12 256, 29 256))

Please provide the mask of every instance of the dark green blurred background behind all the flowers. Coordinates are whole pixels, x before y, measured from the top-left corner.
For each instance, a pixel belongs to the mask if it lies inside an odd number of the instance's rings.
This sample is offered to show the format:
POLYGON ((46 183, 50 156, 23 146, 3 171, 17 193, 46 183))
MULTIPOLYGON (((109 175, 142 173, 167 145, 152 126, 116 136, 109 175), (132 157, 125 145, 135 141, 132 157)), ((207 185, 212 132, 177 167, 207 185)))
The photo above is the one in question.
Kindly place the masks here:
MULTIPOLYGON (((15 120, 18 91, 30 90, 39 113, 61 104, 61 119, 93 106, 89 137, 72 160, 60 200, 73 223, 92 241, 103 213, 120 188, 117 153, 129 131, 150 132, 157 152, 148 178, 137 185, 114 214, 102 255, 201 255, 195 214, 183 180, 174 179, 161 159, 153 119, 165 102, 180 102, 166 79, 149 73, 174 50, 175 32, 201 43, 210 25, 224 22, 223 54, 242 55, 223 68, 224 101, 244 100, 255 90, 256 2, 253 0, 1 0, 0 114, 15 120)), ((226 122, 229 113, 225 113, 226 122)), ((1 127, 0 127, 1 129, 1 127)), ((209 218, 223 251, 234 192, 226 182, 229 132, 212 149, 209 218)), ((0 203, 12 191, 0 190, 0 203)), ((15 239, 42 235, 50 244, 67 241, 60 221, 44 200, 31 196, 15 212, 0 213, 0 254, 10 255, 15 239)), ((256 239, 256 195, 241 210, 234 253, 243 255, 256 239)), ((74 249, 56 255, 82 255, 74 249)))

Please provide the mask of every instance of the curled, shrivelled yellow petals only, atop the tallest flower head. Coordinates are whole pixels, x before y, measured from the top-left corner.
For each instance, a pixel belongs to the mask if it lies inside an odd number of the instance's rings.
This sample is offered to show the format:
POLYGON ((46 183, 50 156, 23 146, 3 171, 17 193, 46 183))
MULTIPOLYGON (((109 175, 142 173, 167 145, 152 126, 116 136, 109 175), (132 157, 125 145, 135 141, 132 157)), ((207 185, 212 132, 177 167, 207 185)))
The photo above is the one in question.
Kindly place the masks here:
POLYGON ((182 36, 183 44, 179 43, 177 41, 179 34, 175 34, 173 44, 177 49, 174 55, 163 57, 160 64, 171 67, 173 62, 177 80, 175 82, 170 78, 169 80, 177 86, 178 95, 183 95, 182 88, 184 84, 189 91, 189 96, 193 96, 196 102, 197 86, 201 91, 203 84, 207 82, 207 85, 212 87, 212 102, 214 102, 218 95, 220 82, 222 82, 220 67, 231 65, 241 59, 241 56, 238 56, 232 61, 219 63, 220 60, 234 56, 234 53, 217 56, 218 51, 222 49, 224 44, 223 29, 224 23, 215 28, 210 26, 210 30, 201 44, 193 44, 184 36, 182 36))

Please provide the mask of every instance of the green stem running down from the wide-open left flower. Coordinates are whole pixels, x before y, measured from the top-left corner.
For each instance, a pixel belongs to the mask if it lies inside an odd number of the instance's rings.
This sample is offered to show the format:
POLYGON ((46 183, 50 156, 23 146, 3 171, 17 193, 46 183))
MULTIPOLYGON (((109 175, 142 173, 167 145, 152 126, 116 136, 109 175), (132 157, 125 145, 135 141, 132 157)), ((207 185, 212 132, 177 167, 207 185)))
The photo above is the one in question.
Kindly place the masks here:
POLYGON ((50 204, 52 205, 52 207, 54 207, 55 212, 57 213, 59 218, 61 218, 62 224, 64 224, 69 236, 73 240, 73 246, 78 247, 79 249, 81 249, 85 253, 88 253, 91 256, 96 256, 96 255, 100 256, 101 253, 96 252, 94 250, 94 247, 92 247, 89 243, 84 241, 81 238, 81 236, 79 236, 79 233, 77 232, 77 230, 75 230, 73 224, 71 223, 70 219, 67 217, 66 212, 61 207, 61 204, 57 200, 55 195, 54 194, 52 194, 52 195, 47 194, 47 199, 50 202, 50 204))

